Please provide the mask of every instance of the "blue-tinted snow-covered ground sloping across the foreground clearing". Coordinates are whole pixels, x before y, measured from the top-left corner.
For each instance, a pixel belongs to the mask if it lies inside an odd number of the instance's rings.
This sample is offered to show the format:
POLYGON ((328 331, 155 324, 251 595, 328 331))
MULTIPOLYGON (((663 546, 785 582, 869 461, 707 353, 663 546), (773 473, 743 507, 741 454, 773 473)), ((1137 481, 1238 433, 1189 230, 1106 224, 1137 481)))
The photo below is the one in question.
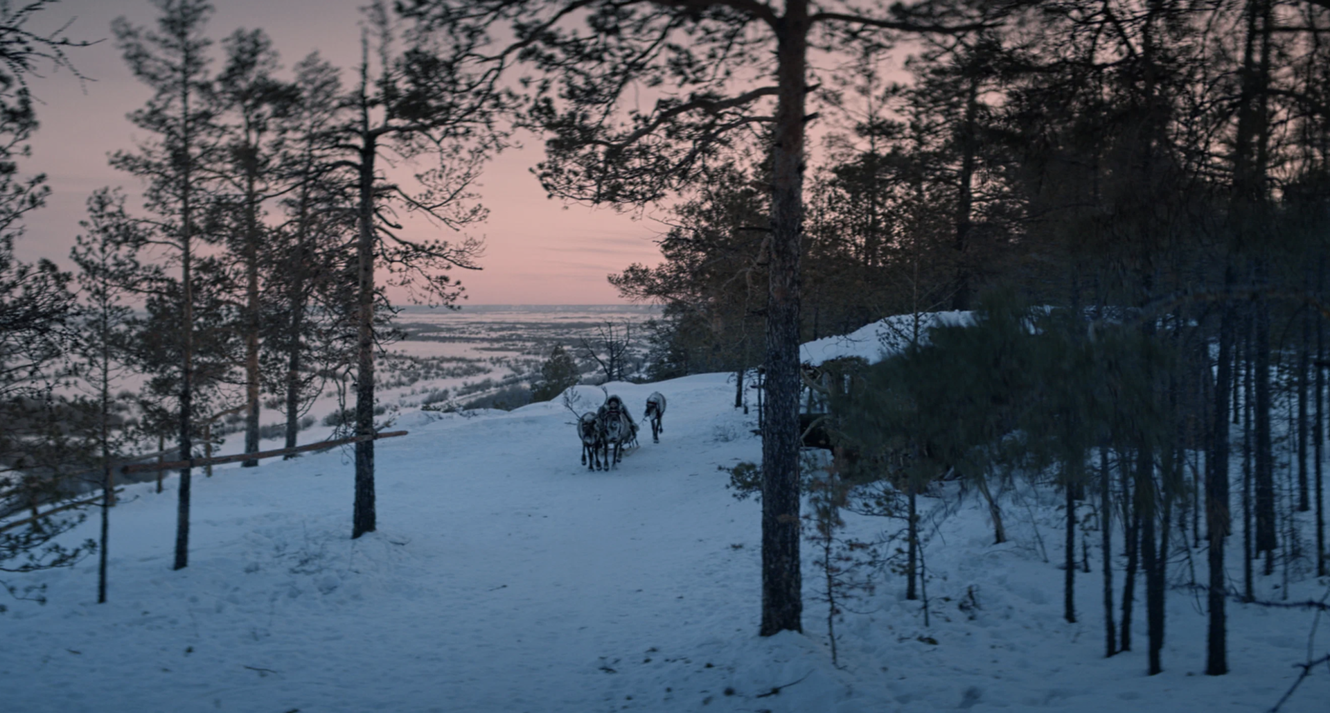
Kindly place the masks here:
MULTIPOLYGON (((661 442, 644 439, 610 472, 579 464, 557 400, 471 418, 404 411, 395 427, 411 434, 376 446, 379 529, 358 540, 344 452, 196 476, 182 571, 170 568, 174 476, 161 495, 129 487, 112 511, 109 603, 96 604, 93 559, 5 575, 48 584, 49 603, 0 615, 0 708, 1258 712, 1309 646, 1330 648, 1326 623, 1309 644, 1309 611, 1232 604, 1233 673, 1204 676, 1204 601, 1172 591, 1166 670, 1148 677, 1140 600, 1137 650, 1103 657, 1095 547, 1080 623, 1061 620, 1063 573, 1040 549, 1061 559, 1056 503, 1008 501, 1012 541, 995 547, 975 499, 940 490, 920 505, 930 625, 899 575, 876 575, 837 623, 834 666, 811 545, 805 632, 757 636, 759 505, 735 500, 718 470, 759 456, 755 414, 732 407, 733 384, 609 388, 634 418, 650 391, 669 398, 661 442)), ((899 521, 849 527, 872 536, 899 521)), ((94 533, 96 513, 74 536, 94 533)), ((1241 576, 1237 559, 1230 572, 1241 576)), ((1262 580, 1261 596, 1277 599, 1278 581, 1262 580)), ((1327 585, 1305 580, 1290 599, 1327 585)), ((1282 710, 1321 713, 1327 700, 1322 666, 1282 710)))

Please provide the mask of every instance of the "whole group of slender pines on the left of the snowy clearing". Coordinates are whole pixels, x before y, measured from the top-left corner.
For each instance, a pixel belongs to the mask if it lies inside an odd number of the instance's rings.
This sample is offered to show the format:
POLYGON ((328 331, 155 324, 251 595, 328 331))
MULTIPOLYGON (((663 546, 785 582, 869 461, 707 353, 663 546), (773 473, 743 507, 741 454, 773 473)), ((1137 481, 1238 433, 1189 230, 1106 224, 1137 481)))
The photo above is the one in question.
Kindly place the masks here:
MULTIPOLYGON (((70 254, 74 270, 28 265, 13 258, 13 241, 47 189, 43 177, 19 173, 31 170, 17 158, 36 129, 24 76, 45 60, 76 68, 74 48, 85 44, 25 29, 53 3, 4 5, 0 17, 9 69, 0 126, 5 513, 31 507, 36 516, 39 503, 68 499, 100 464, 105 557, 113 464, 156 442, 186 463, 176 537, 182 568, 190 462, 217 439, 213 426, 238 415, 243 452, 257 452, 266 400, 285 411, 293 447, 313 398, 350 376, 352 532, 375 529, 374 356, 391 315, 384 287, 442 305, 460 295, 450 269, 477 267, 481 245, 460 231, 484 218, 471 186, 504 142, 503 97, 469 90, 477 80, 448 56, 459 48, 403 39, 384 3, 366 9, 362 63, 343 82, 318 53, 283 74, 259 29, 238 29, 218 47, 205 0, 153 0, 153 27, 112 25, 124 61, 153 90, 129 117, 142 138, 110 157, 140 181, 142 205, 126 205, 120 190, 96 192, 70 254), (402 161, 416 166, 406 182, 387 170, 402 161), (144 386, 118 390, 126 379, 144 386)), ((43 517, 0 533, 3 559, 28 557, 21 568, 72 561, 74 551, 51 541, 73 521, 43 517), (43 545, 51 556, 33 559, 43 545)))

